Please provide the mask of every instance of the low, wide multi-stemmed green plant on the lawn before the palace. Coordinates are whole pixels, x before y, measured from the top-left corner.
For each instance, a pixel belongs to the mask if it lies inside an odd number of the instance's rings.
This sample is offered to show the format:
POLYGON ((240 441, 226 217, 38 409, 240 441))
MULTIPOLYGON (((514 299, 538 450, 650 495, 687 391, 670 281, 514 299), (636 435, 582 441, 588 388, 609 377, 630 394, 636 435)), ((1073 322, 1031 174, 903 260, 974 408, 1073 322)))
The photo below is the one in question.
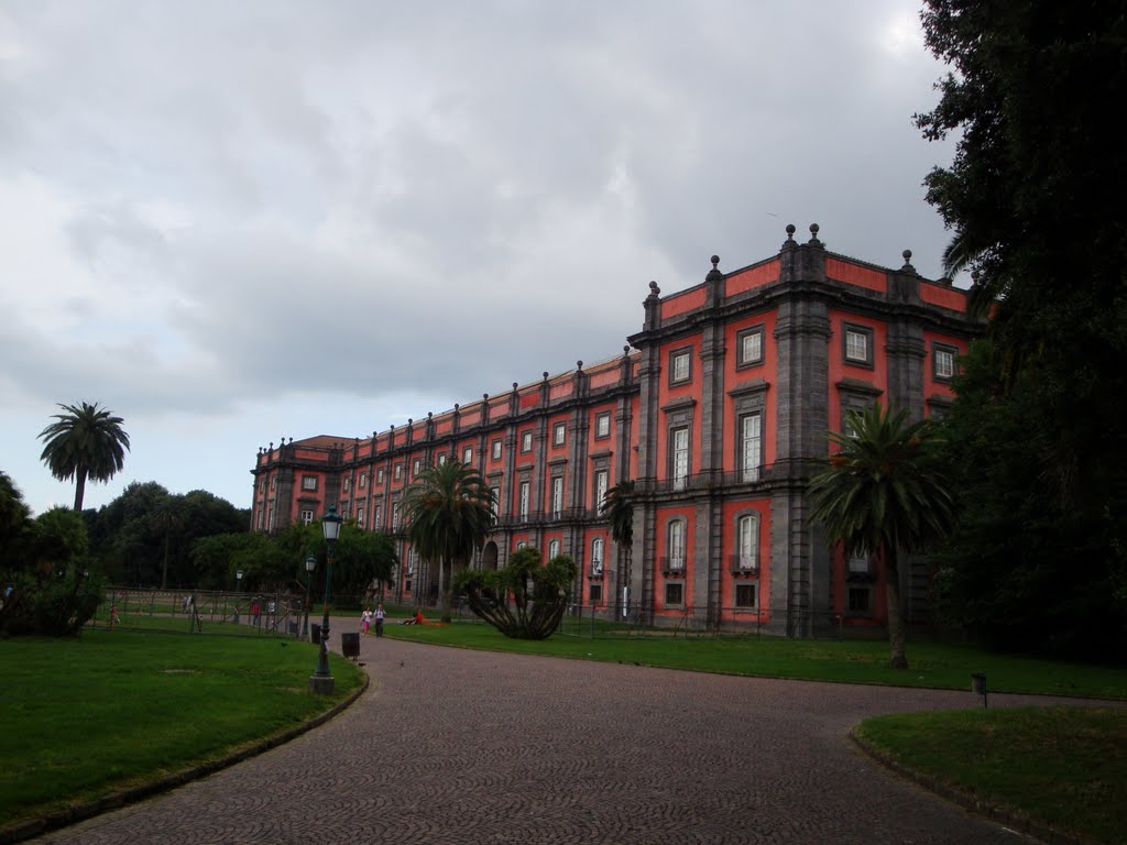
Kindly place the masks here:
POLYGON ((506 637, 544 640, 559 628, 579 568, 568 555, 540 564, 540 552, 525 546, 502 569, 463 569, 454 579, 470 610, 506 637))

